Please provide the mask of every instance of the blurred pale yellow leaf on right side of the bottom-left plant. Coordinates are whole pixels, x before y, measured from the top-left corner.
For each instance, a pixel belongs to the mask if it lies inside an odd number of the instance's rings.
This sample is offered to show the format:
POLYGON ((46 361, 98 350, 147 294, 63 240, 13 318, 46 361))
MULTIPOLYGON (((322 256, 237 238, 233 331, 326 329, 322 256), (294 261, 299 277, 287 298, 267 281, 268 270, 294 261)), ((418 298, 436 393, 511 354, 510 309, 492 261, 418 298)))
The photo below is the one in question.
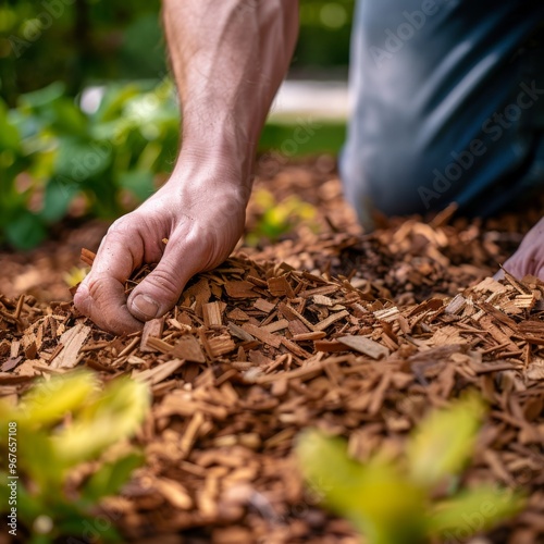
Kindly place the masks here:
POLYGON ((141 424, 149 403, 146 384, 128 378, 110 382, 98 399, 89 403, 67 429, 53 437, 59 458, 86 461, 132 436, 141 424))

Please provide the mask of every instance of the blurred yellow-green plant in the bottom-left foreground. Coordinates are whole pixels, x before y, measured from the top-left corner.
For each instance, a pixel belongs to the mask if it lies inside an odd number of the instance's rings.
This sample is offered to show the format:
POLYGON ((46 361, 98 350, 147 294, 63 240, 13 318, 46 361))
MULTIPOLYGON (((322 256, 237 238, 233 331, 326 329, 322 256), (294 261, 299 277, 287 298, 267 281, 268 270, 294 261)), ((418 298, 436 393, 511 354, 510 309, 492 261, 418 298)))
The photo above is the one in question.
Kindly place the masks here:
MULTIPOLYGON (((101 391, 94 374, 78 371, 35 385, 17 407, 0 403, 0 485, 9 495, 1 504, 16 508, 17 535, 23 526, 30 542, 48 543, 94 527, 99 502, 119 493, 143 461, 127 438, 149 399, 143 383, 120 378, 101 391)), ((100 540, 119 540, 107 526, 100 540)))

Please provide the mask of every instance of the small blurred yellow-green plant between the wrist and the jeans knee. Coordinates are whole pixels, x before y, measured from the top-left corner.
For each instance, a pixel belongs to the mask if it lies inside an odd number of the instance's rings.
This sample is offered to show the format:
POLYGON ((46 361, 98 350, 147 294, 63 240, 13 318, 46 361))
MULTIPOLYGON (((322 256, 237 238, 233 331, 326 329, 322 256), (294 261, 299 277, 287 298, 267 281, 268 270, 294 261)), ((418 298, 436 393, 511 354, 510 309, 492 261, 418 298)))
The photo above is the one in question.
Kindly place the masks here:
POLYGON ((317 214, 316 208, 296 195, 279 202, 272 193, 261 188, 256 190, 254 201, 257 221, 245 238, 249 246, 257 246, 263 238, 276 242, 301 222, 317 228, 317 224, 312 222, 317 214))

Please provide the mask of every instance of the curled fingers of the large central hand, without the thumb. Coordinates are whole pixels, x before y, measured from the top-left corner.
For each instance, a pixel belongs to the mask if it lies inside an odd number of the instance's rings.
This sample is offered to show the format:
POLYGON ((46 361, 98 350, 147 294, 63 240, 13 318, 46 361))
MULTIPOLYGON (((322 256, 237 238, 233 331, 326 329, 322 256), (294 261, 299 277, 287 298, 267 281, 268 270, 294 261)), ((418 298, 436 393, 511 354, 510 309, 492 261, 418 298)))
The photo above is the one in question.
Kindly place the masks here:
POLYGON ((140 237, 131 235, 125 222, 114 224, 74 296, 75 307, 98 326, 115 334, 139 331, 144 324, 128 311, 124 284, 140 264, 143 255, 140 237))

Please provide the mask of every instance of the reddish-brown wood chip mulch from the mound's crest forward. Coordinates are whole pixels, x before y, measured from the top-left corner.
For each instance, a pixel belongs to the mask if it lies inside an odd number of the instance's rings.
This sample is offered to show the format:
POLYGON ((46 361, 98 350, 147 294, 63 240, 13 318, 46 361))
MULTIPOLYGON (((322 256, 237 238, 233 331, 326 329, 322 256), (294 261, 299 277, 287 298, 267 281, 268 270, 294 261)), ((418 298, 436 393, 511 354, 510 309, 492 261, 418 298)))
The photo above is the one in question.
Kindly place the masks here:
POLYGON ((491 410, 463 483, 527 489, 527 509, 487 536, 542 542, 544 283, 487 277, 419 304, 390 297, 357 274, 238 256, 194 279, 143 333, 112 337, 70 302, 0 296, 0 395, 16 401, 36 376, 77 366, 150 384, 136 438, 146 465, 104 505, 127 541, 351 543, 349 524, 302 485, 297 433, 345 435, 362 461, 395 457, 430 408, 475 388, 491 410))

